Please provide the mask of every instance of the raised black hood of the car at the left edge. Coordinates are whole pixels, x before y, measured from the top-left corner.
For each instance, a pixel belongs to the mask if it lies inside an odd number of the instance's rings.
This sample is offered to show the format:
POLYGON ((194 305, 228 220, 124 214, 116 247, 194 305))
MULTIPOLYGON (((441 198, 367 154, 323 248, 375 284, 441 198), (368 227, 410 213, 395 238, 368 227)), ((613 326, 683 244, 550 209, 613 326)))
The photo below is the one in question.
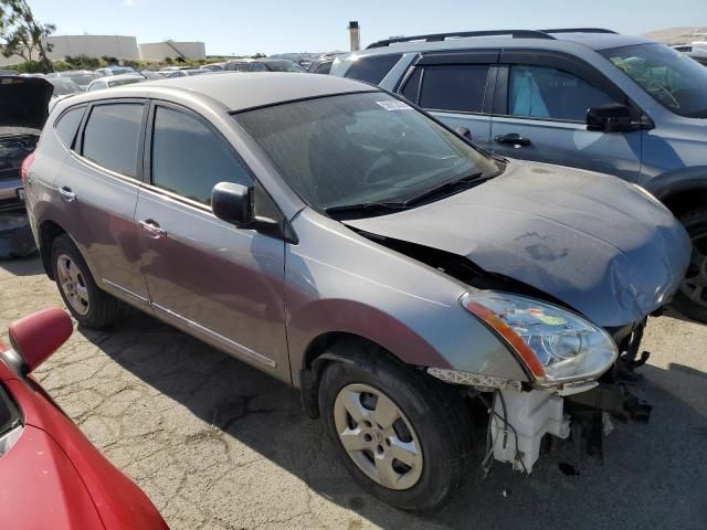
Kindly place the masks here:
POLYGON ((44 127, 53 91, 40 77, 0 77, 0 134, 6 127, 44 127))

